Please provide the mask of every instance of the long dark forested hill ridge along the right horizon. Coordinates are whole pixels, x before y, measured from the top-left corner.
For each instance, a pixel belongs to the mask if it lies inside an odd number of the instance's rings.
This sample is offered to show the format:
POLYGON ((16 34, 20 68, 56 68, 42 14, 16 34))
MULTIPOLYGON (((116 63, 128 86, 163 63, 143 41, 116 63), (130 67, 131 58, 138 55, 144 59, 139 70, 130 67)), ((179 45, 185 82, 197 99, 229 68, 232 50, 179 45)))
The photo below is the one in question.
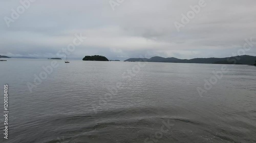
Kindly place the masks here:
POLYGON ((160 56, 154 56, 150 59, 147 58, 131 58, 124 62, 165 62, 165 63, 198 63, 198 64, 241 64, 241 65, 253 65, 256 60, 256 56, 241 55, 231 56, 228 58, 195 58, 195 59, 177 59, 177 58, 162 58, 160 56))

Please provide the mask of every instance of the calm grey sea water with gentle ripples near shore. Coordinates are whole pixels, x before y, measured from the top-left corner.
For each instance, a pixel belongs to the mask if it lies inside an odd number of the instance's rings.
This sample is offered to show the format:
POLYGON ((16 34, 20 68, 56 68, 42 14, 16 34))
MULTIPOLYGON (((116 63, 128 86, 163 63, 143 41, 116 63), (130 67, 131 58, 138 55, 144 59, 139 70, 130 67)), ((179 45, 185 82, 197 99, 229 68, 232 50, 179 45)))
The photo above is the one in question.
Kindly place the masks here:
POLYGON ((51 60, 0 63, 0 107, 7 83, 10 111, 1 142, 256 142, 254 66, 226 65, 200 96, 223 65, 70 62, 58 61, 32 92, 27 83, 51 60))

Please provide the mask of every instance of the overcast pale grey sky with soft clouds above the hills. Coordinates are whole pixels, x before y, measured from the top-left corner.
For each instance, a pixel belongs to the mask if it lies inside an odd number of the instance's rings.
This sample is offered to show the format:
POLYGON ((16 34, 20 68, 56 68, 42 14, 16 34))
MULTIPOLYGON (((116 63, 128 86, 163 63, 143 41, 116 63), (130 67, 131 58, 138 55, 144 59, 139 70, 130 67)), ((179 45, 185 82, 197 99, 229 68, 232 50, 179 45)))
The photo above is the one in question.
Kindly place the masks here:
MULTIPOLYGON (((206 6, 178 32, 175 21, 181 23, 182 14, 198 3, 124 0, 113 10, 109 0, 36 0, 8 27, 5 17, 22 5, 0 0, 0 54, 56 57, 81 33, 87 39, 70 58, 100 54, 125 60, 147 51, 165 58, 225 57, 256 37, 255 0, 205 0, 206 6)), ((256 55, 255 47, 246 54, 256 55)))

